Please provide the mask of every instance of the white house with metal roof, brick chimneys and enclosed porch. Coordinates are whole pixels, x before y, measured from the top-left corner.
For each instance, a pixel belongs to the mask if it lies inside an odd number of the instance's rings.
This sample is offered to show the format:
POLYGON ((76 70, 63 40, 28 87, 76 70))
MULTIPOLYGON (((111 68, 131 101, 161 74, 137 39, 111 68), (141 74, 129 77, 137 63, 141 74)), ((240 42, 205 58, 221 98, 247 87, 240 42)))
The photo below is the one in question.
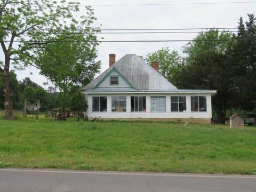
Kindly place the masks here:
POLYGON ((215 90, 180 90, 138 55, 126 54, 83 87, 89 119, 126 119, 210 124, 215 90))

